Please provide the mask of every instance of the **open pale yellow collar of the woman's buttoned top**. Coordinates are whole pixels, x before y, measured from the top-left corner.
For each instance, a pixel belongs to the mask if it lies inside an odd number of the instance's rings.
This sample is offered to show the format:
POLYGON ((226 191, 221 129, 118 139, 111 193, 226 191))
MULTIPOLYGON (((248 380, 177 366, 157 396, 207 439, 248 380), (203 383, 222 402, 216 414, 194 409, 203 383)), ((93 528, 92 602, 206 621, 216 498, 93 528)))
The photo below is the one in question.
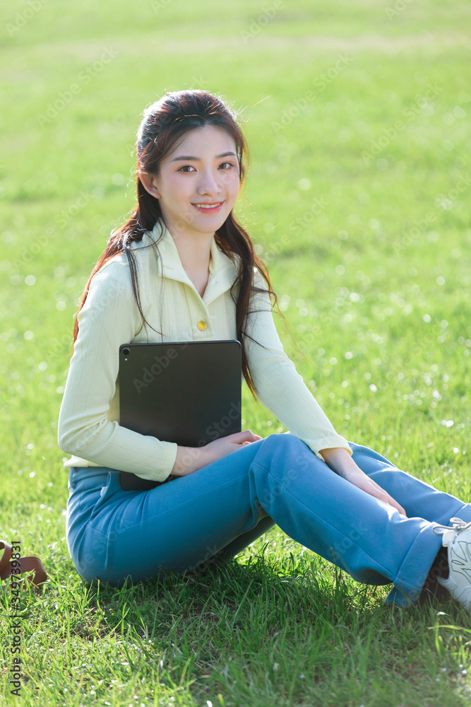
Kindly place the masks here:
MULTIPOLYGON (((158 254, 156 250, 155 255, 157 258, 157 270, 160 276, 185 282, 198 294, 196 287, 189 279, 186 270, 181 264, 177 245, 172 234, 162 221, 157 221, 152 230, 145 232, 143 241, 144 243, 148 241, 148 244, 145 245, 151 245, 152 243, 156 243, 157 245, 158 254)), ((237 278, 236 266, 232 260, 217 247, 214 236, 210 247, 209 272, 208 285, 203 295, 203 301, 206 304, 232 287, 232 284, 234 284, 237 278)))

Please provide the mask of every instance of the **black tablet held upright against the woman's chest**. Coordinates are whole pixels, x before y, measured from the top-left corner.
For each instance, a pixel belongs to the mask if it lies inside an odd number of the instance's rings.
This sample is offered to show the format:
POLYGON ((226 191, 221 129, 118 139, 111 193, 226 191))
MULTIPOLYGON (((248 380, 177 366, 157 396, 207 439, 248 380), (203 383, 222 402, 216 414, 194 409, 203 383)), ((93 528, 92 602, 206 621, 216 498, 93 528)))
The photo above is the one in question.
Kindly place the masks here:
MULTIPOLYGON (((135 432, 201 447, 241 431, 239 341, 124 344, 118 382, 119 423, 135 432)), ((159 485, 129 472, 120 480, 133 490, 159 485)))

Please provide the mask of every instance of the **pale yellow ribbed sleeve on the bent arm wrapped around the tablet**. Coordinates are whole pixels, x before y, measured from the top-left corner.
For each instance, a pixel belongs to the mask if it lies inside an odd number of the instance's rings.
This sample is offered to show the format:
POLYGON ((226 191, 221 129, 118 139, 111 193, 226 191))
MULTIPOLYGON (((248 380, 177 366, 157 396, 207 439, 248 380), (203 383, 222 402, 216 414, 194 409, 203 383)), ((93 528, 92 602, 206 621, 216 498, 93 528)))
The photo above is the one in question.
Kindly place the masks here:
POLYGON ((177 444, 133 432, 108 416, 116 393, 119 346, 133 341, 141 325, 129 267, 113 259, 93 276, 78 315, 59 413, 59 447, 100 467, 164 481, 172 472, 177 444))

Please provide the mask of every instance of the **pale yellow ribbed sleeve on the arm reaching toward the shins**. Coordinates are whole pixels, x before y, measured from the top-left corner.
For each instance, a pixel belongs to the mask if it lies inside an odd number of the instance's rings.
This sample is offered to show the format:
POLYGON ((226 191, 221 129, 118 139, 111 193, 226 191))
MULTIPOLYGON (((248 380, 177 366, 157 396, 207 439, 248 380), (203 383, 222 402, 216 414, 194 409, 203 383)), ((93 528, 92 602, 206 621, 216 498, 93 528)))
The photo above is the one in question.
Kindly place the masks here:
POLYGON ((258 343, 247 337, 246 350, 258 399, 320 459, 323 460, 319 454, 321 449, 345 447, 352 454, 347 440, 335 432, 294 363, 285 354, 273 321, 268 289, 256 269, 254 284, 264 292, 251 298, 246 332, 258 343))

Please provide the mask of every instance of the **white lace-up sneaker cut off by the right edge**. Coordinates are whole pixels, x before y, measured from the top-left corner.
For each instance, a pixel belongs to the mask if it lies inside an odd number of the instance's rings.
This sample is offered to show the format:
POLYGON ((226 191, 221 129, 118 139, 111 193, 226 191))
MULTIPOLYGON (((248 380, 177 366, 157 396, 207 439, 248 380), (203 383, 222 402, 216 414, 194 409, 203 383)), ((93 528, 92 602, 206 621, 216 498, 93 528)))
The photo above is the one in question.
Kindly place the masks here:
POLYGON ((433 528, 437 535, 443 534, 441 544, 448 547, 450 570, 447 579, 437 577, 436 580, 471 614, 471 522, 466 523, 461 518, 451 518, 450 522, 453 527, 437 523, 433 528))

